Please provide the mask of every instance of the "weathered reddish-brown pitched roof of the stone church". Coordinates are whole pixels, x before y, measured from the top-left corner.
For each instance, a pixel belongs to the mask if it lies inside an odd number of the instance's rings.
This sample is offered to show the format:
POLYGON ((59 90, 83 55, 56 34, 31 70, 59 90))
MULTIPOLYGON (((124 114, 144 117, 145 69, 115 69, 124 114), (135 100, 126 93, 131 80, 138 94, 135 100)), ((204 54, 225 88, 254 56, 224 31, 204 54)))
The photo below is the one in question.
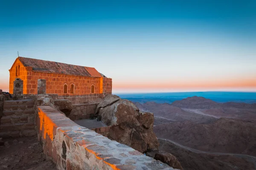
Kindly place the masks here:
POLYGON ((18 57, 18 59, 25 67, 32 67, 32 70, 35 72, 67 74, 84 77, 102 77, 101 74, 92 67, 84 67, 26 57, 18 57))

